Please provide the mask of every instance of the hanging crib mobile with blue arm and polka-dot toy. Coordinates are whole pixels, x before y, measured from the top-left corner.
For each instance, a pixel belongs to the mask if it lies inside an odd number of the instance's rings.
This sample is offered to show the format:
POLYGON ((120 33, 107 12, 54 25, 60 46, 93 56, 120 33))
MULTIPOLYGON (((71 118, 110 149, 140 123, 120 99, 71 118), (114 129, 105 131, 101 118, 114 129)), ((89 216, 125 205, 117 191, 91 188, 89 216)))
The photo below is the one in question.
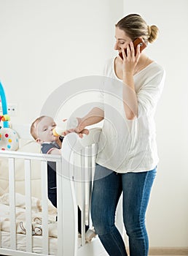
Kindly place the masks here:
POLYGON ((19 147, 18 135, 13 129, 9 128, 10 118, 7 112, 7 100, 1 82, 0 97, 2 106, 2 116, 0 116, 2 124, 2 127, 0 126, 0 150, 17 150, 19 147))

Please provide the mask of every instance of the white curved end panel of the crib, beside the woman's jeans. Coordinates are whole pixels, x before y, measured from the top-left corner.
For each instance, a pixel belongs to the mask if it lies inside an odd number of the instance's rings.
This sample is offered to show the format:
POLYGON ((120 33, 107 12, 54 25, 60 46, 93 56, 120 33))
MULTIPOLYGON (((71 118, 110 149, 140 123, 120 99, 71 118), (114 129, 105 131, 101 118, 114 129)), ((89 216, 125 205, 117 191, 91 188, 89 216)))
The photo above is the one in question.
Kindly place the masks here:
MULTIPOLYGON (((63 252, 64 255, 76 255, 78 248, 77 239, 77 204, 82 210, 82 242, 85 246, 85 221, 90 222, 90 195, 93 184, 93 172, 95 169, 95 157, 97 154, 98 140, 101 129, 90 129, 90 135, 79 138, 75 133, 71 133, 63 140, 66 146, 62 147, 62 170, 61 180, 63 189, 72 193, 72 203, 67 202, 68 197, 63 193, 63 221, 68 218, 74 219, 74 224, 68 229, 63 228, 63 252), (75 188, 77 187, 77 189, 75 188), (78 188, 79 187, 79 188, 78 188), (79 192, 75 193, 75 189, 79 192), (78 198, 80 196, 80 198, 78 198), (86 207, 87 206, 87 215, 86 207), (70 242, 71 241, 71 242, 70 242), (70 244, 72 246, 70 252, 70 244)), ((64 144, 65 145, 65 144, 64 144)))

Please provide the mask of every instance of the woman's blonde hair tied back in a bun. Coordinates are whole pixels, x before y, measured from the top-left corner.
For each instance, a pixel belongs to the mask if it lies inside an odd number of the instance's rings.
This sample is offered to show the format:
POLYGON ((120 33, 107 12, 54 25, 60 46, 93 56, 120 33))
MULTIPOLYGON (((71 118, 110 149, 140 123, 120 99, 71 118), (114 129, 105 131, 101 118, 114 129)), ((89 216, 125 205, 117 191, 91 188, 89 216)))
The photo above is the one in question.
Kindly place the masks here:
POLYGON ((138 14, 130 14, 125 16, 118 21, 115 26, 125 31, 130 39, 134 40, 138 37, 142 37, 146 43, 154 42, 159 33, 157 26, 148 26, 146 21, 138 14))

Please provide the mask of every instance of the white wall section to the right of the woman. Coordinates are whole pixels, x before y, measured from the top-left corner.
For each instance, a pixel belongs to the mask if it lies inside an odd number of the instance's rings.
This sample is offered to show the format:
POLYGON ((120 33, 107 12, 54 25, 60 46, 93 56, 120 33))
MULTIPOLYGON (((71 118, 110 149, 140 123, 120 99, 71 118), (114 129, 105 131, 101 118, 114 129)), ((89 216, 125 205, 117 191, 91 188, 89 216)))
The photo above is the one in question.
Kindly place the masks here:
POLYGON ((156 115, 160 164, 147 214, 151 246, 188 246, 187 10, 187 0, 124 0, 124 15, 139 13, 159 26, 148 54, 167 73, 156 115))

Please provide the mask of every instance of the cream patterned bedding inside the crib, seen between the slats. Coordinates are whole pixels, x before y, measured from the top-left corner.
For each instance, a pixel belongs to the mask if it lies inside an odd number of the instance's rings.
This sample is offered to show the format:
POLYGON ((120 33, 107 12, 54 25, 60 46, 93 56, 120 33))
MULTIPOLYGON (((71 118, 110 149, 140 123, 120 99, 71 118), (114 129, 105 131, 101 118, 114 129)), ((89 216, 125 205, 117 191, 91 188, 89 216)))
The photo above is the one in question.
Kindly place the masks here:
MULTIPOLYGON (((26 201, 25 196, 15 194, 16 205, 16 227, 17 227, 17 249, 26 251, 26 201)), ((42 200, 32 197, 32 227, 33 227, 33 252, 42 253, 42 200)), ((57 209, 48 202, 48 235, 49 235, 49 255, 57 255, 58 247, 58 227, 56 222, 57 209)), ((9 194, 5 193, 0 197, 0 236, 1 247, 10 248, 10 220, 9 220, 9 194)), ((78 238, 78 246, 81 245, 81 238, 78 238)))

